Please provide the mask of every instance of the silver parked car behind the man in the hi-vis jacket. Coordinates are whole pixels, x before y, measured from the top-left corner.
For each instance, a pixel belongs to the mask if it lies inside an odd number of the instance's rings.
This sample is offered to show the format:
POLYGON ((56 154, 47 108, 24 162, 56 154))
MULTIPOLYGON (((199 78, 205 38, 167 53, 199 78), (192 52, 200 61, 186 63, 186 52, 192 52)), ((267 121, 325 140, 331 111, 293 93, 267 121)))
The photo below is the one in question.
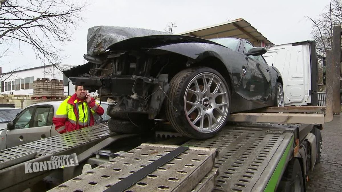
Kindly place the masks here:
MULTIPOLYGON (((24 108, 1 132, 0 150, 58 135, 52 126, 52 118, 61 103, 62 101, 42 102, 24 108)), ((98 103, 100 104, 99 101, 98 103)), ((95 115, 97 123, 108 121, 108 106, 108 102, 101 102, 105 113, 101 116, 95 115)))

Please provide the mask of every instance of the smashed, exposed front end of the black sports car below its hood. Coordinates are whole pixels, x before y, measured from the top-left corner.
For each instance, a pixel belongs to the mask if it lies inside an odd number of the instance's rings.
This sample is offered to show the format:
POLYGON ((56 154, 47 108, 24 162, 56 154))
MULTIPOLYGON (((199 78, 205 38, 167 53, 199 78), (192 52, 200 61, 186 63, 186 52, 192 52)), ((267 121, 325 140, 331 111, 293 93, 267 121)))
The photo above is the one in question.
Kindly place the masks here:
POLYGON ((69 77, 73 84, 83 85, 87 90, 100 90, 100 97, 115 97, 118 103, 108 108, 107 114, 147 113, 149 119, 156 118, 169 90, 168 74, 158 78, 136 75, 114 75, 112 77, 69 77))

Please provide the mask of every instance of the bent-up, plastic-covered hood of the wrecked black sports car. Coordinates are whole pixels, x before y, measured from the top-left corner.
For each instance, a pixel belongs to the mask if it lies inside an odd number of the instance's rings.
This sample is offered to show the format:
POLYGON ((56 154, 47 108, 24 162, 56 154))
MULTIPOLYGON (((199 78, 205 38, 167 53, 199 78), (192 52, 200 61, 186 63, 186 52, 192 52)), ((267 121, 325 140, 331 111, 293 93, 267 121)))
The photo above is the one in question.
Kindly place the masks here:
POLYGON ((129 50, 160 45, 202 42, 217 44, 198 37, 172 35, 162 31, 133 27, 95 26, 88 29, 87 55, 99 55, 109 49, 129 50))

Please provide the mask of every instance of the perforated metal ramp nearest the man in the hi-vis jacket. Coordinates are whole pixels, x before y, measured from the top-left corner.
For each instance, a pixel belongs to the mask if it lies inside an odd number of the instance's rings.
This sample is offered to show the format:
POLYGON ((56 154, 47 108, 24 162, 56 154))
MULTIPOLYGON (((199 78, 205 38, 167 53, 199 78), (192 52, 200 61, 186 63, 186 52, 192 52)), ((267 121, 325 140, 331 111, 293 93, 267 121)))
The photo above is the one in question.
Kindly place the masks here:
POLYGON ((0 183, 2 183, 0 191, 4 189, 7 191, 18 191, 18 188, 14 189, 13 187, 17 187, 26 180, 42 174, 41 172, 25 174, 25 163, 48 161, 52 155, 80 153, 87 147, 92 147, 96 142, 100 142, 101 139, 111 135, 116 134, 110 133, 107 123, 101 123, 1 150, 0 175, 19 175, 20 177, 12 179, 11 182, 8 182, 6 177, 0 177, 0 183))

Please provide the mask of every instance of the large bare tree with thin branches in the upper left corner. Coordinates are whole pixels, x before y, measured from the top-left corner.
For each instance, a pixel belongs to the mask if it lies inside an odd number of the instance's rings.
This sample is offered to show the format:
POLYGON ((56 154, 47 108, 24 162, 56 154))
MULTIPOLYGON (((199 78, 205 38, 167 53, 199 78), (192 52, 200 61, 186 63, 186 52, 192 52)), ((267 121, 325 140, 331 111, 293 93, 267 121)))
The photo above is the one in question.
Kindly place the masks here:
POLYGON ((65 56, 59 47, 71 41, 85 6, 68 0, 0 0, 0 45, 24 43, 44 65, 61 63, 65 56))

